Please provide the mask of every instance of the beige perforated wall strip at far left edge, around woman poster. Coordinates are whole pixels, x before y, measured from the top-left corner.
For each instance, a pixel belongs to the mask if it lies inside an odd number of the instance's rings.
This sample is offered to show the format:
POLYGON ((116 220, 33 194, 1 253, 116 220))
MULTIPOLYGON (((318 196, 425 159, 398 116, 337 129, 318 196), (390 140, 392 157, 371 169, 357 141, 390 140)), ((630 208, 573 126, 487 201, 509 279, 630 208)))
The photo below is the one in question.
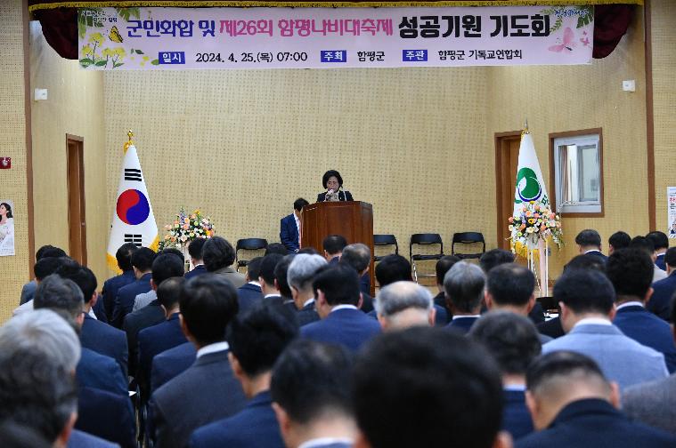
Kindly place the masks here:
POLYGON ((0 196, 14 201, 13 257, 0 257, 3 287, 0 290, 0 322, 19 304, 21 286, 29 280, 29 221, 26 176, 26 116, 24 107, 24 50, 21 1, 0 2, 0 156, 12 157, 12 169, 0 172, 0 196))

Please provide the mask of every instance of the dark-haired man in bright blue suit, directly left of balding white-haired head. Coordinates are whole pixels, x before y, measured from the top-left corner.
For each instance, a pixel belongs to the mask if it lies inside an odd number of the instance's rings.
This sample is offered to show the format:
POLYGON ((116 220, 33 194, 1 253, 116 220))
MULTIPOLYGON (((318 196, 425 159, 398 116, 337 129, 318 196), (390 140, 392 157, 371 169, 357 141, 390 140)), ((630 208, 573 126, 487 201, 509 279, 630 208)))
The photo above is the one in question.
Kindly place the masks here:
POLYGON ((342 344, 353 351, 380 332, 380 325, 359 309, 359 279, 353 268, 338 264, 314 277, 314 308, 322 320, 301 327, 309 340, 342 344))

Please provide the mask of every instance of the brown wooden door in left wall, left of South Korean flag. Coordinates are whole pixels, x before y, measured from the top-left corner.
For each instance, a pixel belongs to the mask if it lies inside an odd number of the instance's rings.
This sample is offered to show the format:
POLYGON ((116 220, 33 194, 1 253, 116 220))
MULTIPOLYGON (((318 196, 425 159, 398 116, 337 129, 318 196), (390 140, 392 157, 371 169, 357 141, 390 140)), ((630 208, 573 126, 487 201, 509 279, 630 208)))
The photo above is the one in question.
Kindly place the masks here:
POLYGON ((86 220, 85 220, 85 163, 84 140, 66 134, 68 152, 68 227, 69 254, 73 260, 86 265, 86 220))

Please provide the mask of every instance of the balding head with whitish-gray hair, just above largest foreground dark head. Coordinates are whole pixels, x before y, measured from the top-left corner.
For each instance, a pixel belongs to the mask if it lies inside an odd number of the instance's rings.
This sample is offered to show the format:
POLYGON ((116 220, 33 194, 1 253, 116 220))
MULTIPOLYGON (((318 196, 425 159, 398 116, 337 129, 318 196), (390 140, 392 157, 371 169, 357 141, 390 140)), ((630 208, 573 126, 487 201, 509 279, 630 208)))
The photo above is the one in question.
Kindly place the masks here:
POLYGON ((388 284, 378 293, 375 305, 384 331, 435 324, 432 293, 415 282, 388 284))

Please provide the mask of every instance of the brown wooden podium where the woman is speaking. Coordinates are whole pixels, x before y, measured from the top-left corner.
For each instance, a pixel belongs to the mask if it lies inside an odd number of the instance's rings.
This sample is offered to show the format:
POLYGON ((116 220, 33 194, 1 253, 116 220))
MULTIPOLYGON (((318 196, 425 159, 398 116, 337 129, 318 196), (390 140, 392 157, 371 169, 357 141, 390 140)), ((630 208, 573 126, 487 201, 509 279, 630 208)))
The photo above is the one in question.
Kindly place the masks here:
POLYGON ((371 249, 371 296, 373 276, 373 207, 359 201, 321 202, 303 207, 300 247, 314 247, 323 253, 322 242, 330 235, 345 236, 347 244, 362 243, 371 249))

